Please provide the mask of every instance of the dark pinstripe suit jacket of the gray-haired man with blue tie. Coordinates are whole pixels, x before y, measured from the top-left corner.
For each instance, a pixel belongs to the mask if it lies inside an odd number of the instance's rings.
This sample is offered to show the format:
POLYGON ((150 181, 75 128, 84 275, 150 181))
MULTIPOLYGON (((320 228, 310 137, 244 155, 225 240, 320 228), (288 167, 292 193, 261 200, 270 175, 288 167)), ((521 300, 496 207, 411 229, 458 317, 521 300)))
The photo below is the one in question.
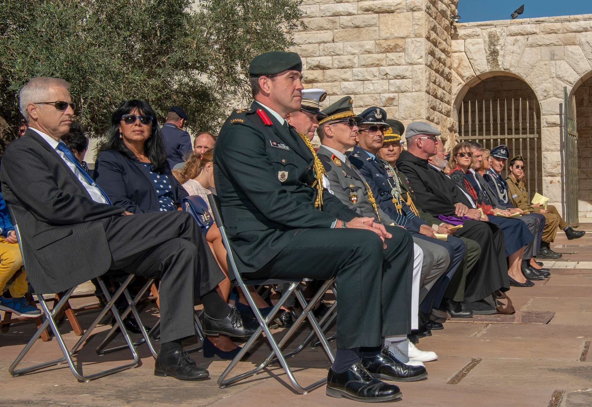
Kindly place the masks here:
POLYGON ((18 222, 27 278, 38 294, 64 291, 108 271, 104 224, 123 208, 93 201, 37 132, 28 129, 11 142, 0 180, 18 222))

